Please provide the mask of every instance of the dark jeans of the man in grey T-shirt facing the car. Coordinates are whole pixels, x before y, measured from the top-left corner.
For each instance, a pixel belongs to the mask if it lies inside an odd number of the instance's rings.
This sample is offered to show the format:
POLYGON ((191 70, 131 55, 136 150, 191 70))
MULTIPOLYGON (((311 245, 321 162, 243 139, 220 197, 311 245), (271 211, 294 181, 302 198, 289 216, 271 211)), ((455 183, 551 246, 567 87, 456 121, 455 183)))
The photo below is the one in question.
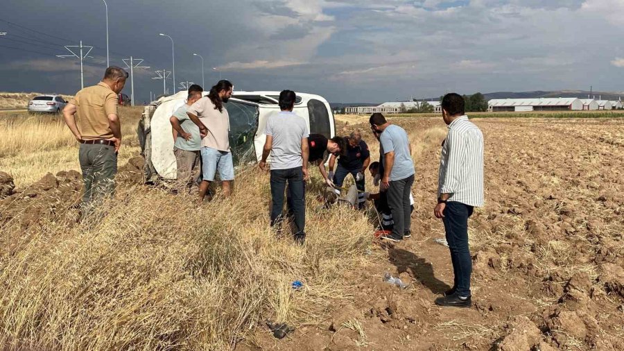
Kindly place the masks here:
POLYGON ((271 170, 271 226, 284 218, 284 190, 288 182, 289 207, 295 217, 295 236, 304 236, 306 225, 306 201, 302 167, 271 170))

